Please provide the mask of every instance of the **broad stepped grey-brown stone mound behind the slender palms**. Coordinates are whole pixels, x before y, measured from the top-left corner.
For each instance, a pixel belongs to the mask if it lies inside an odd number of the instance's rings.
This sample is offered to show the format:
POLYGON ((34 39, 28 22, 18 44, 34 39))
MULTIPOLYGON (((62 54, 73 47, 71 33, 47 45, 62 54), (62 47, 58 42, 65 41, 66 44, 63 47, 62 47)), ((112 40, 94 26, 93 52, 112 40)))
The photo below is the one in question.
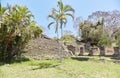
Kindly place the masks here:
MULTIPOLYGON (((63 45, 60 43, 60 46, 63 45)), ((31 40, 25 48, 24 55, 36 60, 40 59, 59 59, 70 57, 70 53, 65 48, 60 49, 56 40, 53 40, 45 35, 31 40), (61 51, 62 50, 62 51, 61 51)))

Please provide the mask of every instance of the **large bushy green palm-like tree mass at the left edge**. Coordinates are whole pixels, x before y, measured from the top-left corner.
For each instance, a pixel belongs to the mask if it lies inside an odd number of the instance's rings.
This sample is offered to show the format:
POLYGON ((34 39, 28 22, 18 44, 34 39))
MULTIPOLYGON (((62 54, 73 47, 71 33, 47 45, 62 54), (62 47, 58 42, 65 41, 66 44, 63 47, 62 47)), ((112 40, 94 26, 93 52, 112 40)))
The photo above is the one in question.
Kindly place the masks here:
POLYGON ((27 7, 1 6, 0 61, 11 62, 19 58, 26 43, 42 33, 27 7))

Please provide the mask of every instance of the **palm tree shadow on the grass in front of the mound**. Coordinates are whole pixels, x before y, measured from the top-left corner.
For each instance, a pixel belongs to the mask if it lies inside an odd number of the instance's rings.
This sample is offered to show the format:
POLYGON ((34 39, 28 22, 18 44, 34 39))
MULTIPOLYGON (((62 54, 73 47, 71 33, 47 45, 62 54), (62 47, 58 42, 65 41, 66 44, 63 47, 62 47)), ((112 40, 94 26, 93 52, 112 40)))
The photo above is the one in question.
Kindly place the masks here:
POLYGON ((33 68, 32 70, 38 70, 38 69, 46 69, 46 68, 54 68, 58 66, 59 64, 51 64, 51 63, 39 63, 37 68, 33 68))

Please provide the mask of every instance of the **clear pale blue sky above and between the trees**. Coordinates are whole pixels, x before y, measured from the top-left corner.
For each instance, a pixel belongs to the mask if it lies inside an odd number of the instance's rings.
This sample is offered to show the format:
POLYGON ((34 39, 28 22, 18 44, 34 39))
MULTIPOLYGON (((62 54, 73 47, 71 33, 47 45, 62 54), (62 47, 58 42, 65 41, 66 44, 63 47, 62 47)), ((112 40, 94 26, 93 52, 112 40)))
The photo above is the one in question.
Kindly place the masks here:
MULTIPOLYGON (((57 7, 58 0, 0 0, 3 6, 19 4, 27 6, 35 16, 37 23, 44 28, 44 33, 50 37, 56 36, 54 27, 49 30, 47 25, 51 20, 47 19, 51 8, 57 7)), ((81 16, 86 19, 88 15, 95 11, 120 11, 120 0, 63 0, 64 4, 69 4, 75 9, 75 17, 81 16)), ((73 28, 74 21, 68 18, 68 24, 64 30, 70 30, 76 35, 77 30, 73 28)))

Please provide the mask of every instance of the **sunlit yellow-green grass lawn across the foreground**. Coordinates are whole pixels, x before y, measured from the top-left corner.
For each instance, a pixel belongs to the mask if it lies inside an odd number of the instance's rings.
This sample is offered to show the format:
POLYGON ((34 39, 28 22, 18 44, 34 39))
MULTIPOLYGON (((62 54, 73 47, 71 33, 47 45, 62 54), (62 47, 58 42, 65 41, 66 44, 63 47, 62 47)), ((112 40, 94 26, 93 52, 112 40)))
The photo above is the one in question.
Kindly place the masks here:
POLYGON ((81 59, 30 60, 0 66, 0 78, 120 78, 120 63, 81 59))

